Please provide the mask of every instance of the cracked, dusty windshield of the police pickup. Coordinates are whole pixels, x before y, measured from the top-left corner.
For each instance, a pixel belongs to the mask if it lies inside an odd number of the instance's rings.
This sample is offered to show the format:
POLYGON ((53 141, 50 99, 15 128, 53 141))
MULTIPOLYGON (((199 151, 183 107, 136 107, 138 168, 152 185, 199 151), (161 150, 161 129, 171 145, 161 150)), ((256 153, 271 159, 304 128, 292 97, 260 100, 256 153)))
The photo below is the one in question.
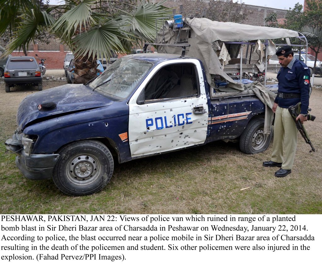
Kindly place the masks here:
POLYGON ((111 97, 125 99, 136 87, 152 63, 120 58, 90 83, 90 88, 111 97))

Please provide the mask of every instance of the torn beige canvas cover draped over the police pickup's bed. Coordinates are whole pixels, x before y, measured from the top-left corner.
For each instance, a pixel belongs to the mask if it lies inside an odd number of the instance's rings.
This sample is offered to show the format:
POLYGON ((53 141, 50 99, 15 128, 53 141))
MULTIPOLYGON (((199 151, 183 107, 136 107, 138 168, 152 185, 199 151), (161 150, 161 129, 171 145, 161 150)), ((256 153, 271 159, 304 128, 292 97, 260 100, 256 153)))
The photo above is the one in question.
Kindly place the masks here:
MULTIPOLYGON (((164 28, 164 32, 161 29, 158 32, 156 42, 174 44, 181 41, 188 41, 190 47, 187 47, 186 56, 199 58, 203 62, 208 83, 212 87, 214 83, 212 82, 213 78, 211 75, 220 75, 228 81, 229 88, 225 91, 234 91, 236 89, 243 91, 245 87, 223 72, 222 63, 216 53, 216 50, 221 48, 218 45, 218 41, 252 41, 260 43, 258 40, 298 37, 298 32, 292 30, 233 22, 217 22, 207 18, 185 18, 184 22, 190 28, 185 27, 180 31, 164 28)), ((262 50, 260 53, 262 57, 265 56, 263 49, 265 49, 264 45, 258 46, 258 50, 262 50)), ((158 52, 181 54, 182 48, 158 46, 158 52)), ((269 41, 268 53, 269 56, 275 53, 275 45, 272 41, 269 41)), ((265 65, 265 60, 262 61, 261 57, 259 57, 259 61, 262 62, 262 65, 265 65)))

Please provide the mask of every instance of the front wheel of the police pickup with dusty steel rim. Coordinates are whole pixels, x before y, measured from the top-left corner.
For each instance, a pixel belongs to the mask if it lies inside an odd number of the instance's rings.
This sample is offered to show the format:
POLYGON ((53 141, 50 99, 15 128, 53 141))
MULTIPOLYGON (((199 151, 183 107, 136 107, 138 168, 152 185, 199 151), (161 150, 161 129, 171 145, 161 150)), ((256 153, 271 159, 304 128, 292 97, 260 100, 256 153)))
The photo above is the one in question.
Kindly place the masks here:
POLYGON ((71 196, 100 191, 112 177, 114 161, 109 149, 95 140, 71 143, 58 153, 52 179, 71 196))

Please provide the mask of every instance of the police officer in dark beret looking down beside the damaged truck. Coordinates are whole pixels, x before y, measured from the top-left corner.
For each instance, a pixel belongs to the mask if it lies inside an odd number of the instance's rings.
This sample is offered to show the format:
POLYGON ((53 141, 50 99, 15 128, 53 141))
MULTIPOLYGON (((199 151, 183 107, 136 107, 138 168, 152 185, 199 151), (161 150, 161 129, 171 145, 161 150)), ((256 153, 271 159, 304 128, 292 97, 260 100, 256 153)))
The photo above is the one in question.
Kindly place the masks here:
POLYGON ((280 167, 276 177, 291 173, 297 145, 297 128, 288 108, 301 102, 301 113, 296 120, 307 121, 310 94, 310 70, 302 61, 294 58, 291 46, 283 46, 276 51, 281 65, 277 74, 278 94, 273 105, 275 113, 273 152, 270 161, 263 162, 265 167, 280 167), (284 157, 283 157, 284 150, 284 157))

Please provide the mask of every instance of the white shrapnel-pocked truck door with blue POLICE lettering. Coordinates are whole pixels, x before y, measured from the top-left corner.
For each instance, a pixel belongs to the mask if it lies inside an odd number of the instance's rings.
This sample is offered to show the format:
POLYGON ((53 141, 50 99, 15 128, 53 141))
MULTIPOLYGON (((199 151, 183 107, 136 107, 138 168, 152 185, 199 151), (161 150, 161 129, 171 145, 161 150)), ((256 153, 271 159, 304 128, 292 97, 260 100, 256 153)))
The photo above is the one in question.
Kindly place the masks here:
POLYGON ((203 144, 208 105, 200 62, 158 64, 129 100, 131 156, 203 144))

